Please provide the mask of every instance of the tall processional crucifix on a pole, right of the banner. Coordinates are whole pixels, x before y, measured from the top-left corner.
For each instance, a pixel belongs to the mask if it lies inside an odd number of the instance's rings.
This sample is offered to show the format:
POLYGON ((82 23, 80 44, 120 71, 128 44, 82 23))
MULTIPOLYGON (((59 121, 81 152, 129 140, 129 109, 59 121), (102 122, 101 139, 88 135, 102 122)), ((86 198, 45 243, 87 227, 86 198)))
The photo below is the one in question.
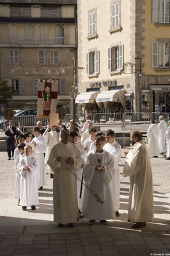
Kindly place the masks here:
POLYGON ((77 86, 75 86, 75 70, 77 69, 83 69, 83 67, 75 67, 75 58, 72 58, 73 60, 73 67, 65 67, 72 68, 73 70, 73 85, 72 85, 72 92, 70 93, 70 96, 73 99, 73 129, 75 129, 75 98, 77 96, 77 86))

